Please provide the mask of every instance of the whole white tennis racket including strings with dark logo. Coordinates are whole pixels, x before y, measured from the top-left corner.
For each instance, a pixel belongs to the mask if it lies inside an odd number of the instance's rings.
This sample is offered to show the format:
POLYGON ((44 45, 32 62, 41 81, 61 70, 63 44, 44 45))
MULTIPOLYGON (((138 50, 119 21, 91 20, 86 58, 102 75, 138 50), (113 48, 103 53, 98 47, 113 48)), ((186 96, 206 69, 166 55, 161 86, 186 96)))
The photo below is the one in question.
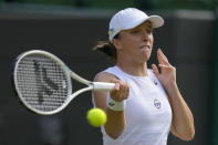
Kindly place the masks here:
POLYGON ((58 56, 42 50, 20 54, 13 66, 13 84, 24 106, 41 115, 61 112, 86 91, 112 91, 114 83, 91 82, 71 71, 58 56), (86 84, 72 91, 71 79, 86 84))

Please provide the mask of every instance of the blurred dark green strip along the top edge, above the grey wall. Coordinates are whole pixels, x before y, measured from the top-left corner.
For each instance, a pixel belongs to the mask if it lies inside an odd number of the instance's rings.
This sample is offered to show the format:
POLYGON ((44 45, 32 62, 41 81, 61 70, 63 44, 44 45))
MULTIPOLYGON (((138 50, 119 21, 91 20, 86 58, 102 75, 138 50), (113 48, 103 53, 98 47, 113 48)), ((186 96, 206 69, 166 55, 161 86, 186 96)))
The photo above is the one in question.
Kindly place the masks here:
POLYGON ((146 10, 195 9, 212 10, 215 0, 0 0, 1 2, 55 4, 83 8, 123 9, 137 7, 146 10))

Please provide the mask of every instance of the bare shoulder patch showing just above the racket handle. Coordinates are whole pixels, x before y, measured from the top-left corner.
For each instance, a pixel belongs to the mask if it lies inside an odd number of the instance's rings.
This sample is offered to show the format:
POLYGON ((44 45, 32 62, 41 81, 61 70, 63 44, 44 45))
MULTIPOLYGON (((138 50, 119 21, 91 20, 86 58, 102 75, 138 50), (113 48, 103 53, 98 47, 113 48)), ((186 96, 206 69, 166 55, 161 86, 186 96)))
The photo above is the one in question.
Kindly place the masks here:
POLYGON ((117 79, 117 77, 111 73, 101 72, 94 77, 94 82, 111 82, 111 80, 113 79, 117 79))

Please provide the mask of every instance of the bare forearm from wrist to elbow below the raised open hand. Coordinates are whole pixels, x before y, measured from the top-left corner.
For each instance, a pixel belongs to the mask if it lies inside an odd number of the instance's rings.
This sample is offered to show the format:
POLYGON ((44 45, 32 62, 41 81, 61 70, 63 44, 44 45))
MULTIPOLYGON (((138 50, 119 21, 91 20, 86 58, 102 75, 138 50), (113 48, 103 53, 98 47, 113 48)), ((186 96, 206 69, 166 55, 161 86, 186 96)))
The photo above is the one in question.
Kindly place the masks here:
POLYGON ((184 101, 176 83, 166 87, 173 110, 173 125, 177 135, 183 139, 191 139, 195 135, 194 117, 184 101))

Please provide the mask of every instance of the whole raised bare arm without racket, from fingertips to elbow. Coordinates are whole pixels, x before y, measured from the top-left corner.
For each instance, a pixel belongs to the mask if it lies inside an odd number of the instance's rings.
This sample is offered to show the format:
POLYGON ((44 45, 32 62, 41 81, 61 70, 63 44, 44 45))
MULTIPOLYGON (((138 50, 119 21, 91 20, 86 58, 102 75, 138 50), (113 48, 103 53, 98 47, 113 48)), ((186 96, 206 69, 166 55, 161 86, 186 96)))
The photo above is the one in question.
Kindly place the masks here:
POLYGON ((180 139, 190 141, 195 136, 194 117, 176 84, 176 69, 169 64, 160 50, 157 51, 157 59, 162 72, 159 73, 157 66, 154 64, 153 71, 164 85, 169 97, 173 110, 170 131, 180 139))

